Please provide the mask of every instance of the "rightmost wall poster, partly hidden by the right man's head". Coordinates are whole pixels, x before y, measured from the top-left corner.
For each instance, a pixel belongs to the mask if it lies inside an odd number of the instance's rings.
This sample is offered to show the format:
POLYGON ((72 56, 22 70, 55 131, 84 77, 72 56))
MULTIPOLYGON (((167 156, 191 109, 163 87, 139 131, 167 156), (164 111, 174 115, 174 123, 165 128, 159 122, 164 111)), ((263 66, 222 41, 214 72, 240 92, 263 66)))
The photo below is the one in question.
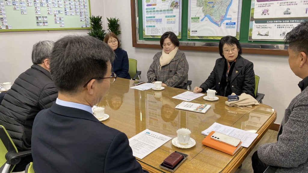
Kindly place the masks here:
POLYGON ((248 40, 283 41, 286 33, 305 21, 307 0, 252 0, 248 40))

